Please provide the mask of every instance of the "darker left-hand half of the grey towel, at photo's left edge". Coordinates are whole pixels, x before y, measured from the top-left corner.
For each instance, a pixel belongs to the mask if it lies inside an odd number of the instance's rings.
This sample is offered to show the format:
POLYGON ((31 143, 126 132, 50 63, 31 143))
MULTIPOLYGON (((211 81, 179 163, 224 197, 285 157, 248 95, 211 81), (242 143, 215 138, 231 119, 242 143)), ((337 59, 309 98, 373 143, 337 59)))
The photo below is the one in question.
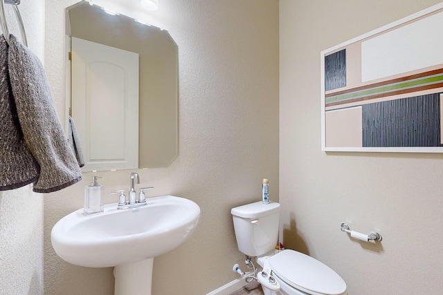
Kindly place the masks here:
POLYGON ((24 143, 8 73, 8 44, 0 35, 0 191, 35 182, 39 164, 24 143))

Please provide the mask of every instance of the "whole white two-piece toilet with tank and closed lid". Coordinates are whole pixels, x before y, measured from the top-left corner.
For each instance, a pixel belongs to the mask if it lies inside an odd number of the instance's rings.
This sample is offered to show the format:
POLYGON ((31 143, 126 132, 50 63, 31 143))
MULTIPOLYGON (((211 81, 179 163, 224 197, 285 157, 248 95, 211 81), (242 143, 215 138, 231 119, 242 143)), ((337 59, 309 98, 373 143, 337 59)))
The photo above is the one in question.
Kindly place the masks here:
POLYGON ((343 278, 311 256, 288 249, 274 255, 278 242, 279 203, 254 202, 235 207, 230 213, 239 251, 257 257, 263 267, 263 274, 259 272, 257 279, 265 295, 347 294, 343 278))

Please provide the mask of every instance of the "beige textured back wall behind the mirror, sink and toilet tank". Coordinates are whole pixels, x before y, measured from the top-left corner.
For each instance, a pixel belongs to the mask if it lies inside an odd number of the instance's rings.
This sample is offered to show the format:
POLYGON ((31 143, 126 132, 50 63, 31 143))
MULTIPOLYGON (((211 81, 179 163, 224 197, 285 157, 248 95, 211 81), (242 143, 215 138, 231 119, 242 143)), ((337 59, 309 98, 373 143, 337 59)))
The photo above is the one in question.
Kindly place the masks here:
MULTIPOLYGON (((46 70, 62 115, 64 7, 72 3, 46 0, 46 70)), ((125 1, 129 16, 168 29, 179 46, 179 157, 168 168, 138 170, 141 186, 201 207, 195 234, 154 259, 153 295, 207 294, 235 280, 232 267, 244 260, 230 208, 260 200, 262 178, 278 200, 278 1, 162 0, 150 14, 131 5, 139 1, 125 1)), ((127 189, 130 172, 97 175, 111 191, 127 189)), ((112 294, 112 269, 69 265, 51 246, 51 228, 82 207, 90 178, 45 196, 45 295, 112 294)))

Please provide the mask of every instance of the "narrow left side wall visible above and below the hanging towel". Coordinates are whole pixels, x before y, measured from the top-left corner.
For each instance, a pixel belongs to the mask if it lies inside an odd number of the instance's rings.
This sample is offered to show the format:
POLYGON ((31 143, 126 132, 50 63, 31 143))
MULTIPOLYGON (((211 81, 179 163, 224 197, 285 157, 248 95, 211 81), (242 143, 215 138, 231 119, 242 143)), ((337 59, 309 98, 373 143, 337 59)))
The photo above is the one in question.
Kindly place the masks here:
MULTIPOLYGON (((19 10, 28 48, 43 61, 44 1, 22 1, 19 10)), ((9 5, 6 19, 10 33, 21 40, 9 5)), ((0 294, 43 294, 43 195, 29 185, 0 192, 0 294)))

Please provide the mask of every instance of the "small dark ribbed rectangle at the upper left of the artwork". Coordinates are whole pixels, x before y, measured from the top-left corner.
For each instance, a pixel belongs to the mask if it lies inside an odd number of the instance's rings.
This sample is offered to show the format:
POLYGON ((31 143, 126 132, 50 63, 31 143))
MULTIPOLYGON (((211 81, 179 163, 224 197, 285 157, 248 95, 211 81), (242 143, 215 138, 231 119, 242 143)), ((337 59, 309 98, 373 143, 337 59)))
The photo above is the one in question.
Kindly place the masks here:
POLYGON ((325 90, 346 86, 346 49, 325 56, 325 90))

